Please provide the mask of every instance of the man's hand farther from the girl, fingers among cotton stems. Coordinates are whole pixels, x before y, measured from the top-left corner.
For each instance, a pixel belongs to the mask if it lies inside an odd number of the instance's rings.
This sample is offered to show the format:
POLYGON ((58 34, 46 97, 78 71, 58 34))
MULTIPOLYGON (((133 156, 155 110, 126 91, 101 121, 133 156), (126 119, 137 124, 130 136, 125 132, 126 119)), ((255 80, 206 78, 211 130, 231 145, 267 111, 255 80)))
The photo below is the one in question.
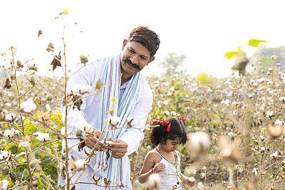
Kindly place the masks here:
MULTIPOLYGON (((86 141, 85 144, 88 148, 93 149, 95 144, 98 142, 98 138, 102 132, 99 130, 95 130, 93 133, 87 134, 86 135, 86 141)), ((106 145, 99 141, 98 144, 95 147, 96 151, 105 151, 106 149, 104 148, 106 145)))

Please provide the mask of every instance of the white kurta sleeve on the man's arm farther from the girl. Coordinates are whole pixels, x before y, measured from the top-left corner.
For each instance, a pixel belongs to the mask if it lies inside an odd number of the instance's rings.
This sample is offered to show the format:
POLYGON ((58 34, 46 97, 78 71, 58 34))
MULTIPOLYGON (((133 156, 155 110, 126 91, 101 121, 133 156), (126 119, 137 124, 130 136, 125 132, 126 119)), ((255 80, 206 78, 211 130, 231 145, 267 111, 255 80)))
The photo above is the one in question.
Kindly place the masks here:
MULTIPOLYGON (((81 66, 82 67, 82 66, 81 66)), ((91 85, 90 80, 90 73, 88 70, 90 70, 90 66, 85 66, 83 68, 78 68, 76 73, 71 75, 70 80, 68 80, 68 90, 72 90, 76 85, 83 84, 83 85, 91 85)), ((95 75, 95 73, 93 73, 95 75)), ((82 95, 82 97, 88 96, 89 93, 82 95)), ((84 117, 84 110, 86 109, 86 98, 81 99, 83 101, 83 104, 80 107, 80 110, 75 106, 73 109, 73 105, 68 107, 68 116, 67 116, 67 127, 68 130, 71 130, 72 134, 76 136, 76 130, 79 128, 83 132, 83 137, 85 137, 84 133, 84 127, 91 127, 91 125, 86 121, 84 117)), ((66 107, 64 104, 61 104, 61 115, 63 122, 65 122, 66 118, 66 107)))

